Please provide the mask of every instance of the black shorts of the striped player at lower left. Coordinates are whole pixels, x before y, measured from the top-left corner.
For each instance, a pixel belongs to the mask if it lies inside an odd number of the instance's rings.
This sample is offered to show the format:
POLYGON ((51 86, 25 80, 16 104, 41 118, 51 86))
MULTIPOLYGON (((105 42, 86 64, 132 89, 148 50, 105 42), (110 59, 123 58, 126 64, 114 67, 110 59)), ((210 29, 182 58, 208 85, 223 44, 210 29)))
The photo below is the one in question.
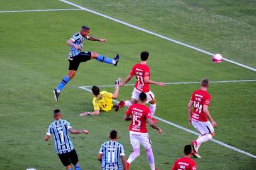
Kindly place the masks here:
POLYGON ((65 154, 58 154, 58 156, 64 166, 68 166, 71 163, 76 165, 78 163, 78 155, 74 149, 71 150, 71 152, 67 152, 65 154))

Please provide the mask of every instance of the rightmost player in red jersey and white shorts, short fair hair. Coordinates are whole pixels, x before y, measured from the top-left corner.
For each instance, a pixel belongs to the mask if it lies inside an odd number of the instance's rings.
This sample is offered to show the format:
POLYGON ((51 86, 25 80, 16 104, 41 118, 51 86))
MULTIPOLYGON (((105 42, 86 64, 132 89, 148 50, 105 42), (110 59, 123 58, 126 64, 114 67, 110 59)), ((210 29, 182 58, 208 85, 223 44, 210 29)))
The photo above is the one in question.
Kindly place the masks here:
POLYGON ((191 145, 193 147, 195 157, 201 158, 198 154, 198 149, 202 142, 211 140, 215 136, 214 128, 217 127, 217 123, 214 122, 208 106, 211 102, 211 95, 207 93, 207 88, 209 86, 208 79, 202 79, 201 89, 194 91, 189 101, 189 106, 187 108, 189 113, 189 123, 194 126, 194 128, 201 133, 197 140, 192 141, 191 145), (194 110, 192 111, 192 105, 194 105, 194 110), (208 121, 208 119, 211 123, 208 121))

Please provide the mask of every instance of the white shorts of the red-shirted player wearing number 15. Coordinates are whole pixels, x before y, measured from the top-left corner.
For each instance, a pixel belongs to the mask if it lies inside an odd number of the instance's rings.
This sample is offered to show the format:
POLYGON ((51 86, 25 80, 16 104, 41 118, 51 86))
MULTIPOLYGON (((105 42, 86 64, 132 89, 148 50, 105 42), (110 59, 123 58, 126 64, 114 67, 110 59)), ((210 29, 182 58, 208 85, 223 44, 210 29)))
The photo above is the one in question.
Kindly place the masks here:
POLYGON ((143 145, 144 149, 151 147, 148 133, 130 131, 130 140, 132 148, 139 148, 140 144, 143 145))

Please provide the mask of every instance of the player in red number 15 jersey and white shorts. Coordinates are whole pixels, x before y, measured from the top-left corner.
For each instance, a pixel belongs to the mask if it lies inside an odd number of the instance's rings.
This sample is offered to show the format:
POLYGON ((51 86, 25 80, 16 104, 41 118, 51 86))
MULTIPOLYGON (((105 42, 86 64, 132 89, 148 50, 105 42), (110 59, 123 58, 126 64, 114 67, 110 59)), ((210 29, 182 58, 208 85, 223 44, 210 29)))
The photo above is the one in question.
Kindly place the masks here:
POLYGON ((154 156, 151 149, 151 140, 149 139, 146 123, 148 123, 152 128, 158 130, 159 133, 161 133, 162 130, 151 122, 151 113, 149 108, 146 106, 146 101, 146 93, 139 94, 139 103, 131 105, 125 113, 124 118, 127 118, 130 115, 132 116, 129 132, 133 152, 130 154, 129 159, 127 160, 127 170, 129 170, 131 162, 139 156, 140 144, 143 145, 144 149, 146 150, 151 169, 155 170, 154 156))

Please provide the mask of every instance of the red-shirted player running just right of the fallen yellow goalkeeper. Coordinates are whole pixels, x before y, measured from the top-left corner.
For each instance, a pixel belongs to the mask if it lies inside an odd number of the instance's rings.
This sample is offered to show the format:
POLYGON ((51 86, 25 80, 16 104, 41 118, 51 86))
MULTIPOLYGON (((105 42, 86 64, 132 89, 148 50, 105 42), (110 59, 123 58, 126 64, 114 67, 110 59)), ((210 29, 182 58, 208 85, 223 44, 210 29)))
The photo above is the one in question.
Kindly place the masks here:
POLYGON ((144 92, 147 94, 147 101, 146 103, 150 103, 149 109, 151 111, 152 116, 156 111, 156 98, 154 98, 154 94, 149 89, 149 84, 156 84, 158 86, 165 86, 164 82, 156 82, 150 80, 150 69, 147 65, 149 53, 144 51, 141 52, 141 62, 134 65, 132 67, 132 71, 130 72, 129 76, 126 77, 125 81, 120 84, 120 86, 124 86, 127 82, 131 80, 133 76, 136 76, 136 84, 134 87, 134 91, 132 92, 132 99, 131 101, 120 101, 119 105, 115 108, 118 111, 122 106, 131 106, 134 103, 137 103, 139 100, 139 94, 144 92))

